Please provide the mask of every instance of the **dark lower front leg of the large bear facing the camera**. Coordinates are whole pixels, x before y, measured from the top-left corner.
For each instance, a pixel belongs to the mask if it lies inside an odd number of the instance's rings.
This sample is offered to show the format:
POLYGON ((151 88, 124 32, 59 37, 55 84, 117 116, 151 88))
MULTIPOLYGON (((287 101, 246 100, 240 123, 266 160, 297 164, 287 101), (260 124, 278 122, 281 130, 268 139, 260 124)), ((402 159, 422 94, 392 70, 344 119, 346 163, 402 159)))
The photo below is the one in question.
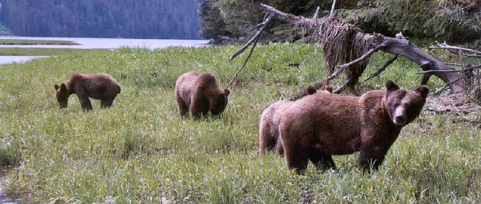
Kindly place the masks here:
POLYGON ((377 171, 381 163, 384 161, 386 151, 381 146, 373 144, 361 145, 361 156, 359 156, 359 164, 365 172, 377 171))

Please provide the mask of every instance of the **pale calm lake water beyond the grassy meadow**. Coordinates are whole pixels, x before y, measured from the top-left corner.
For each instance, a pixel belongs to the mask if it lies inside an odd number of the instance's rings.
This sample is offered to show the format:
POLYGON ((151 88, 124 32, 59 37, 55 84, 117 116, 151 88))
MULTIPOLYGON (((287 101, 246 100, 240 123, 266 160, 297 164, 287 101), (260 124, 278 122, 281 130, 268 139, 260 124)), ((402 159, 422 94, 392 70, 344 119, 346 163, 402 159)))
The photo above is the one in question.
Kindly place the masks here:
MULTIPOLYGON (((75 49, 115 49, 129 48, 167 48, 202 47, 207 46, 208 40, 166 40, 166 39, 124 39, 124 38, 46 38, 46 37, 18 37, 0 36, 0 39, 42 40, 42 41, 73 41, 80 45, 0 45, 0 48, 75 48, 75 49)), ((0 65, 6 63, 23 63, 43 56, 0 56, 0 65)))

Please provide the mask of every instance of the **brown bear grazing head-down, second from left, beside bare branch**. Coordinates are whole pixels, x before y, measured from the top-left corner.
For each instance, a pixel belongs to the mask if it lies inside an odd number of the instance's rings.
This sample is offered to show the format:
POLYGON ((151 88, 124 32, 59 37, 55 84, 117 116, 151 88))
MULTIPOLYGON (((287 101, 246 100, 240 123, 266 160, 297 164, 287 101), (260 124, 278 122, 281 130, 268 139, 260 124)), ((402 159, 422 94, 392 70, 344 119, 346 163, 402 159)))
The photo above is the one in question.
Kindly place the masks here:
POLYGON ((175 97, 182 117, 187 112, 195 119, 209 111, 212 115, 220 114, 227 106, 228 96, 229 90, 221 90, 211 73, 185 73, 175 82, 175 97))

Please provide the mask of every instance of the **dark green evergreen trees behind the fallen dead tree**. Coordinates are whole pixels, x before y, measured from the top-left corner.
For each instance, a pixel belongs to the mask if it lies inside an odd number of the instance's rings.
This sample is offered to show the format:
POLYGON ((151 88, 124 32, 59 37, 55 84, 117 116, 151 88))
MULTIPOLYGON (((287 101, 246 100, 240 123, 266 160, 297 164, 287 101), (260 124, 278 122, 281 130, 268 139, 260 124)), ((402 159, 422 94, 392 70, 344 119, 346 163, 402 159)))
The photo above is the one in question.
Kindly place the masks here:
MULTIPOLYGON (((320 7, 321 16, 329 14, 332 0, 197 0, 200 1, 200 36, 242 37, 249 28, 262 22, 259 4, 279 11, 311 18, 320 7)), ((414 38, 440 41, 475 41, 481 36, 480 0, 346 0, 337 1, 336 16, 354 23, 365 33, 394 36, 402 32, 414 38)), ((263 35, 293 36, 291 26, 274 21, 263 35)), ((275 37, 274 37, 275 38, 275 37)))

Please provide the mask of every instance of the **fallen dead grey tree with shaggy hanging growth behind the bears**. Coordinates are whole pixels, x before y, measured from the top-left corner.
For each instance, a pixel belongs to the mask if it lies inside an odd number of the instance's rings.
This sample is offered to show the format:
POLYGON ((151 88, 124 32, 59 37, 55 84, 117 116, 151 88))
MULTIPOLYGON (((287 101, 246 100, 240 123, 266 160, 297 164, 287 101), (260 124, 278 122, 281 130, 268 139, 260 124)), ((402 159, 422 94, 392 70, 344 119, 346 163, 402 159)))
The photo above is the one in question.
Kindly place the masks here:
MULTIPOLYGON (((251 43, 257 42, 262 31, 271 21, 271 17, 274 17, 281 21, 292 23, 295 28, 306 31, 315 41, 322 44, 324 63, 326 68, 329 69, 329 76, 320 82, 316 82, 313 85, 316 89, 328 85, 331 80, 338 77, 341 73, 346 73, 347 80, 333 92, 340 93, 345 90, 346 87, 353 87, 366 69, 369 57, 373 53, 381 50, 385 53, 392 53, 394 57, 388 60, 388 62, 383 65, 383 68, 374 73, 373 76, 380 74, 400 55, 413 60, 413 62, 419 65, 425 72, 422 73, 422 85, 428 82, 430 76, 435 75, 450 87, 452 93, 467 96, 465 81, 461 80, 462 76, 459 72, 454 71, 448 67, 448 65, 445 65, 445 63, 433 58, 433 56, 424 53, 423 50, 416 45, 407 41, 401 33, 396 35, 395 38, 382 36, 377 33, 362 33, 356 26, 344 23, 339 18, 331 16, 318 18, 317 11, 313 18, 304 18, 302 16, 286 14, 265 4, 261 4, 261 7, 267 14, 264 22, 260 23, 256 28, 262 26, 262 29, 257 32, 249 43, 232 55, 230 60, 244 52, 251 43)), ((306 90, 302 89, 291 99, 296 100, 306 94, 306 90)))

